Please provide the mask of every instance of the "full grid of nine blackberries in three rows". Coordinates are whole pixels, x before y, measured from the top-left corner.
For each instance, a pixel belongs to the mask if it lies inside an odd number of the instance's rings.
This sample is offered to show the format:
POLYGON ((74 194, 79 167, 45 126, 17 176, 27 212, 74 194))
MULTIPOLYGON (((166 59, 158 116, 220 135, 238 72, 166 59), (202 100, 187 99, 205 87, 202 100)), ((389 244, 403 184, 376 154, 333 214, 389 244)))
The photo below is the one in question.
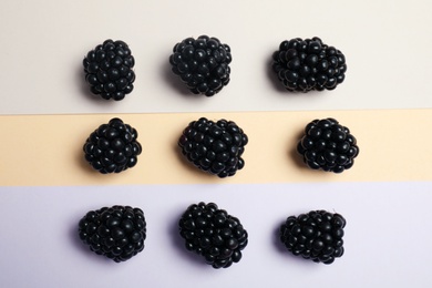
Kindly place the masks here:
MULTIPOLYGON (((194 94, 214 96, 229 83, 232 51, 217 38, 187 38, 173 48, 172 71, 194 94)), ((93 94, 123 100, 134 89, 134 56, 123 41, 106 40, 83 60, 85 81, 93 94)), ((272 69, 287 91, 333 90, 343 82, 347 64, 341 51, 319 38, 282 41, 272 54, 272 69)), ((137 131, 120 119, 101 124, 85 141, 85 160, 100 173, 120 173, 134 167, 142 146, 137 131)), ((200 117, 191 122, 178 140, 187 161, 217 175, 234 176, 245 166, 241 157, 246 133, 233 121, 200 117)), ((341 173, 359 154, 356 137, 335 119, 313 120, 297 145, 312 169, 341 173)), ((289 216, 280 226, 279 239, 296 256, 331 264, 343 255, 344 218, 326 210, 289 216)), ((239 219, 216 204, 191 205, 178 222, 188 250, 214 268, 227 268, 241 259, 248 234, 239 219)), ((140 208, 103 207, 89 212, 79 224, 80 238, 91 250, 114 261, 125 261, 144 249, 146 223, 140 208)))

